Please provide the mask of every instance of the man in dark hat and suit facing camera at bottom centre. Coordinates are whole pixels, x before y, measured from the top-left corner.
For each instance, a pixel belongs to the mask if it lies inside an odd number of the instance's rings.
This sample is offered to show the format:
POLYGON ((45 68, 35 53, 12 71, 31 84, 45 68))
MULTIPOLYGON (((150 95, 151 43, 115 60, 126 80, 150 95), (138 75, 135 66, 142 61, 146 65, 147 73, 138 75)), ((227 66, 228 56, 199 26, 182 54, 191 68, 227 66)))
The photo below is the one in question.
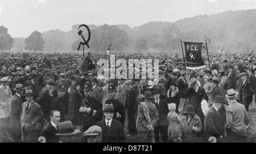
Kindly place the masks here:
POLYGON ((114 107, 112 104, 106 104, 104 108, 105 118, 96 125, 102 129, 103 143, 120 143, 125 141, 125 133, 122 124, 113 118, 114 107))

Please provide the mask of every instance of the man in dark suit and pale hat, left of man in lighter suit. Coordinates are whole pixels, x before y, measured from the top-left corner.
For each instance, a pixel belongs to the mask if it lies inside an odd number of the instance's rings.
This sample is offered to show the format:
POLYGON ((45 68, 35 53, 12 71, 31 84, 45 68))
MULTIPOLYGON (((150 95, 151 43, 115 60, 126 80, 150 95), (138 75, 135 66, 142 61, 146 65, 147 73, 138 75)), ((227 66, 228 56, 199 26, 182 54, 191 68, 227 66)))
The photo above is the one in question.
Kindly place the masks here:
POLYGON ((23 85, 16 84, 15 89, 16 94, 13 95, 11 99, 11 110, 10 110, 10 131, 11 138, 14 139, 14 142, 21 141, 21 126, 20 126, 20 114, 22 113, 22 99, 23 95, 23 85))

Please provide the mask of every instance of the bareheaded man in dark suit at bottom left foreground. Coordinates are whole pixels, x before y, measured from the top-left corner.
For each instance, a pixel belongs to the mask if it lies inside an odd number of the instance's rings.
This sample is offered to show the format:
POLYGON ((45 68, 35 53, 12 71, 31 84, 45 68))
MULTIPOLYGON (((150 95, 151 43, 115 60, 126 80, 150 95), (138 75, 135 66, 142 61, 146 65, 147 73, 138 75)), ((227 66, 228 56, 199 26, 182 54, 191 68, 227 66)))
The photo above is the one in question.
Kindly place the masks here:
POLYGON ((55 136, 55 134, 59 133, 58 124, 60 123, 60 111, 51 111, 49 117, 51 121, 44 126, 41 136, 46 138, 46 143, 58 143, 59 136, 55 136))

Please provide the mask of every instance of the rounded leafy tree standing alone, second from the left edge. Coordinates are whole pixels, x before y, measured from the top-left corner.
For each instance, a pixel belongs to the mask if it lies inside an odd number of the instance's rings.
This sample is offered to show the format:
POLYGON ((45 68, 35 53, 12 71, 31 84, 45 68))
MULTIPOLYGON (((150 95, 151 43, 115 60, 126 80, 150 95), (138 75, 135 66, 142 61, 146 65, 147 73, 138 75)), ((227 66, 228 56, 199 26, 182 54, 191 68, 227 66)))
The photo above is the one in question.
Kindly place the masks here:
POLYGON ((34 31, 28 38, 25 39, 26 47, 25 49, 34 50, 35 51, 42 51, 43 50, 43 36, 40 32, 34 31))

